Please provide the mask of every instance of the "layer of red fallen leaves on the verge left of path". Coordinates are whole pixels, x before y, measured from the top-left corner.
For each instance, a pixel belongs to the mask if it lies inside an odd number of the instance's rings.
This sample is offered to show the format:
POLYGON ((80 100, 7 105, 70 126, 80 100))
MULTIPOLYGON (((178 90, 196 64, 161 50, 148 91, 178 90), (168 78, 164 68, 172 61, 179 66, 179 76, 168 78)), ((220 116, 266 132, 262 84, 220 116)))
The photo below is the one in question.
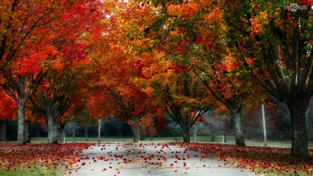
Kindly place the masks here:
POLYGON ((29 144, 19 146, 16 143, 2 142, 0 143, 0 168, 6 167, 8 171, 15 166, 15 170, 25 167, 35 168, 35 166, 53 168, 59 165, 71 168, 74 163, 77 163, 77 154, 88 146, 88 144, 84 143, 29 144))

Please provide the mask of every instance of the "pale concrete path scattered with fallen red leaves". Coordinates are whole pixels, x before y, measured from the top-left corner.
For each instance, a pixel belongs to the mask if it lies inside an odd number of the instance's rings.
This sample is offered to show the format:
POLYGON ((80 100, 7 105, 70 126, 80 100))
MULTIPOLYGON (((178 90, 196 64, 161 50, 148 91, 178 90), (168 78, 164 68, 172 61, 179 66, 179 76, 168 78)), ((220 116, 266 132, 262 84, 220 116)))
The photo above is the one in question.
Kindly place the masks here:
POLYGON ((255 175, 224 161, 167 143, 101 143, 83 150, 78 167, 66 175, 255 175))

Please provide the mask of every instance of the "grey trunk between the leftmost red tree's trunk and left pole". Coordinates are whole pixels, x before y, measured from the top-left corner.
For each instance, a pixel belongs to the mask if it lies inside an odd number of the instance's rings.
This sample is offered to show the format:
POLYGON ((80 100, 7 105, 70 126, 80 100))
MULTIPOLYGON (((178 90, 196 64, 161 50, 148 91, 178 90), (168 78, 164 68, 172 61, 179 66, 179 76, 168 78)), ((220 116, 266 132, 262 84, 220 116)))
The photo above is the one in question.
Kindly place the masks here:
POLYGON ((48 111, 48 143, 58 143, 58 122, 56 114, 52 114, 48 111))

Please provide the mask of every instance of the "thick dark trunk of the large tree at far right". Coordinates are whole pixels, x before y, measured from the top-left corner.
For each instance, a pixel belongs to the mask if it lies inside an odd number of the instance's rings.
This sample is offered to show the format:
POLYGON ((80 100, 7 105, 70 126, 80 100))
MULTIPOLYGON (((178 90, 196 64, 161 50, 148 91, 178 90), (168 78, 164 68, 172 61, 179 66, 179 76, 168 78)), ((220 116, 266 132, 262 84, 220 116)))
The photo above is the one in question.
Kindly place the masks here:
POLYGON ((291 155, 310 158, 307 148, 307 124, 303 104, 289 106, 291 113, 291 155))

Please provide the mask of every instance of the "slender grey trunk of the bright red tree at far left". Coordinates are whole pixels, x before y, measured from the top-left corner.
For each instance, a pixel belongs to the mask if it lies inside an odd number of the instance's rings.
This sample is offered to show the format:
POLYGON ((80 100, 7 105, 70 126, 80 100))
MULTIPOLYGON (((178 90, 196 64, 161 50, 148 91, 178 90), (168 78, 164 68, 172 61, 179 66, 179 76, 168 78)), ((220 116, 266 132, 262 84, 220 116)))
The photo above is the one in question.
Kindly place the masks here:
POLYGON ((17 104, 17 120, 18 120, 18 129, 17 129, 17 145, 25 144, 25 109, 23 104, 17 104))

